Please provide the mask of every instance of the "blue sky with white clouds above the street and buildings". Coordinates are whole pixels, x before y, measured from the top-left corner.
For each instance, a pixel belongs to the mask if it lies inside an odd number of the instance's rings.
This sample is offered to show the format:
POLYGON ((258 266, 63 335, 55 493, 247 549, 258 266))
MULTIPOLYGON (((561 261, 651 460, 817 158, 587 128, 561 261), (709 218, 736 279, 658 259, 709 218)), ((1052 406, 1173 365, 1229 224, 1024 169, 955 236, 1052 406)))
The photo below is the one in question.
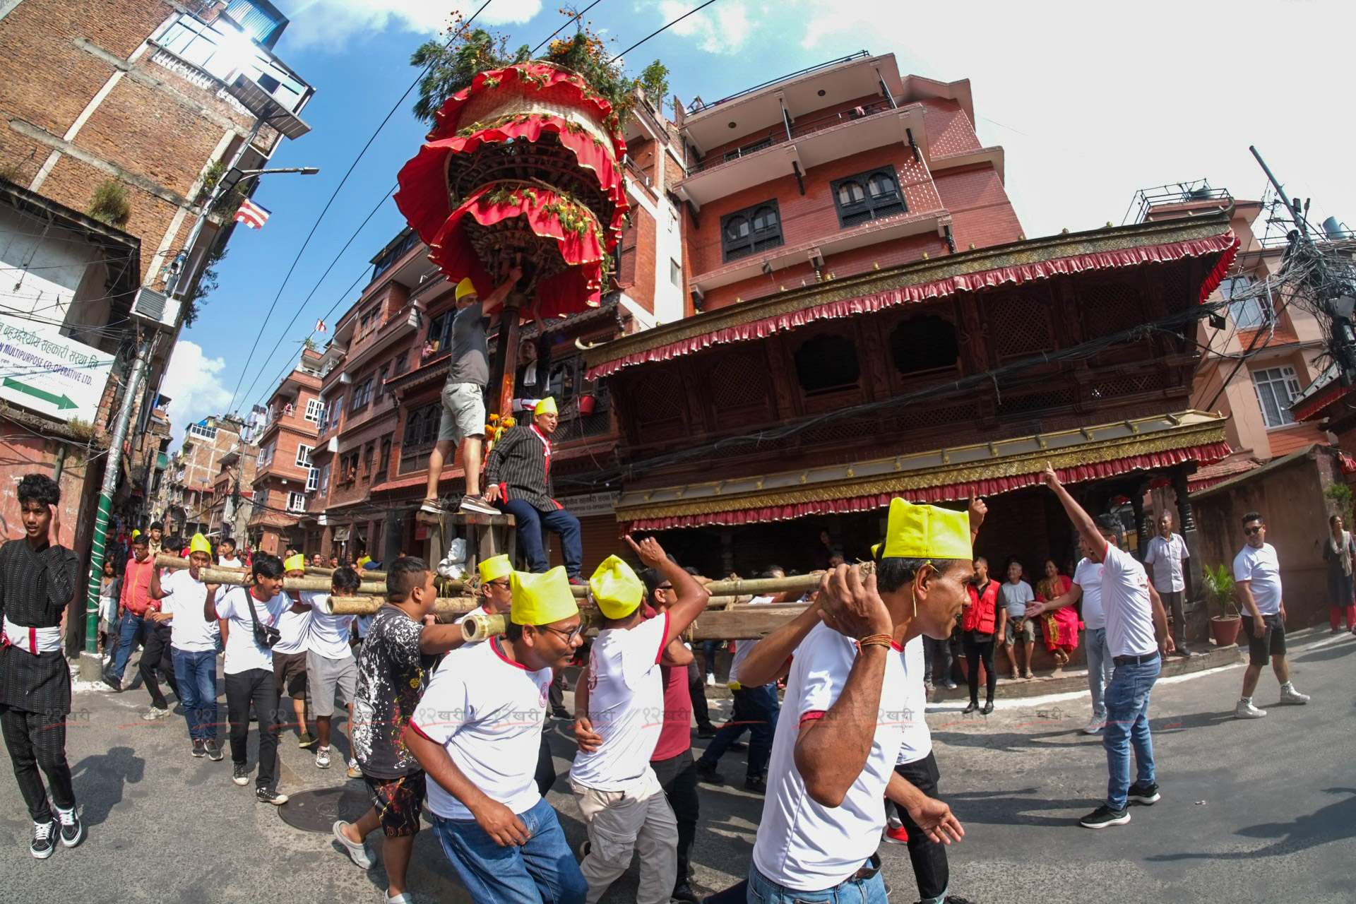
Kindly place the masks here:
MULTIPOLYGON (((620 52, 697 3, 601 0, 584 18, 620 52)), ((218 267, 220 287, 182 333, 170 365, 163 392, 174 400, 176 438, 209 413, 248 412, 264 401, 316 320, 332 327, 357 300, 369 260, 404 226, 393 202, 378 202, 427 131, 410 112, 414 95, 400 102, 323 218, 321 210, 418 75, 410 53, 438 37, 454 9, 471 15, 480 5, 274 4, 292 20, 275 50, 316 95, 302 112, 312 131, 283 141, 270 165, 320 167, 320 173, 260 183, 255 201, 273 215, 259 232, 236 230, 218 267)), ((541 0, 490 0, 477 24, 510 35, 510 46, 536 46, 563 20, 541 0)), ((1356 117, 1345 91, 1353 24, 1356 5, 1326 0, 971 0, 963 7, 716 0, 625 62, 639 75, 662 60, 670 92, 683 103, 864 49, 894 53, 900 75, 970 79, 976 131, 984 145, 1003 146, 1008 192, 1031 237, 1119 225, 1139 188, 1184 180, 1208 178, 1237 198, 1260 198, 1265 175, 1250 144, 1290 194, 1313 198, 1314 222, 1333 214, 1356 225, 1348 168, 1356 117)))

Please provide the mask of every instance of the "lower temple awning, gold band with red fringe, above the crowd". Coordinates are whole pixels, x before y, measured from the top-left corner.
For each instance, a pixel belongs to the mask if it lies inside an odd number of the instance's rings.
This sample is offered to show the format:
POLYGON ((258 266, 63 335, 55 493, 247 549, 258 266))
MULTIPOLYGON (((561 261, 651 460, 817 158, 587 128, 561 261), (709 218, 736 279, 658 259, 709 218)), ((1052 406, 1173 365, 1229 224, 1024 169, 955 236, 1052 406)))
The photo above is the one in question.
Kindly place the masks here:
POLYGON ((934 503, 1037 487, 1051 462, 1066 482, 1229 455, 1220 415, 1185 411, 797 472, 636 489, 617 501, 629 530, 753 525, 871 511, 895 496, 934 503))

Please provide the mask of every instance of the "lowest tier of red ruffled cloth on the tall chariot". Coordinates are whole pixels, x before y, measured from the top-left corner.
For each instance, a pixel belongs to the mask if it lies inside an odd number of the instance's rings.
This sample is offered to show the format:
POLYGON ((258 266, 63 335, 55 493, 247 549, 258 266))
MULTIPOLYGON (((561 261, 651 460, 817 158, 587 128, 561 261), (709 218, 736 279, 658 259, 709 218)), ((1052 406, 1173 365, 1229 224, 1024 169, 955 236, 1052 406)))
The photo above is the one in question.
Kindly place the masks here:
POLYGON ((567 229, 548 209, 571 203, 556 192, 545 188, 521 188, 513 191, 511 203, 491 203, 491 188, 495 186, 481 188, 452 211, 442 229, 428 243, 433 248, 428 258, 449 274, 471 276, 476 291, 485 297, 494 291, 495 279, 480 263, 466 233, 465 221, 469 217, 483 226, 490 226, 511 217, 525 217, 536 234, 555 240, 561 259, 568 264, 564 271, 537 283, 536 294, 541 300, 542 319, 575 313, 584 306, 597 308, 602 290, 605 252, 598 241, 597 221, 593 214, 580 205, 574 205, 575 211, 587 218, 589 226, 583 232, 567 229))

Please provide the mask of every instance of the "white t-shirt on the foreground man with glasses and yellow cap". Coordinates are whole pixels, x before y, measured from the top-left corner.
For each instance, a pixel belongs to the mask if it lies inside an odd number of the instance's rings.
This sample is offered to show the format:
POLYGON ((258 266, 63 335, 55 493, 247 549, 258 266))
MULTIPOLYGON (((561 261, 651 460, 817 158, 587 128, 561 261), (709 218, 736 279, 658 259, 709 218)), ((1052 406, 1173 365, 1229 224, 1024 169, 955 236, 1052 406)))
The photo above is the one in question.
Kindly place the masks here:
MULTIPOLYGON (((471 782, 514 813, 537 805, 537 754, 546 718, 551 670, 527 671, 504 659, 500 638, 447 653, 419 699, 410 728, 442 744, 471 782)), ((428 809, 443 819, 475 819, 438 782, 428 809)))

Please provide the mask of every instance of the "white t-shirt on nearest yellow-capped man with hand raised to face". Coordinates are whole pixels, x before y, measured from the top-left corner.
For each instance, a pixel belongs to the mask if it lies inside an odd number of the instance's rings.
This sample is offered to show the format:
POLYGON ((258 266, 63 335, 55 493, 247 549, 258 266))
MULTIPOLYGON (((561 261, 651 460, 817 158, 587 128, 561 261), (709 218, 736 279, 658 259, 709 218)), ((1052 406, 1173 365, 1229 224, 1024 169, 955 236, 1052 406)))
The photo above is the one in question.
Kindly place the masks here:
MULTIPOLYGON (((848 637, 815 625, 791 663, 786 701, 773 735, 754 866, 773 882, 800 892, 838 885, 856 873, 880 844, 885 827, 885 786, 899 760, 904 726, 880 718, 865 768, 848 789, 841 806, 822 806, 805 792, 796 768, 796 739, 807 713, 824 713, 838 699, 857 645, 848 637), (789 712, 788 712, 789 710, 789 712)), ((881 709, 907 694, 904 656, 885 657, 881 709)), ((921 674, 914 679, 922 686, 921 674)))

